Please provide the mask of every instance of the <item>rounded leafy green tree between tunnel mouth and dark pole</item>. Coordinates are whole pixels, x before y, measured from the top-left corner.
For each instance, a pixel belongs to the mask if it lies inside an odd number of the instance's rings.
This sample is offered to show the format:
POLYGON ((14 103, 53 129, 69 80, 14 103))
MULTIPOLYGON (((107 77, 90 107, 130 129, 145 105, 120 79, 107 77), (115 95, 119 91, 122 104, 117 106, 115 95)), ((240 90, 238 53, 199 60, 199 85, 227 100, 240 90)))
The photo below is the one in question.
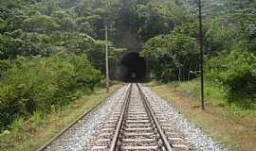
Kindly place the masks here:
POLYGON ((152 59, 150 68, 157 80, 190 80, 195 77, 191 71, 198 70, 197 47, 194 38, 173 33, 145 42, 140 53, 152 59))

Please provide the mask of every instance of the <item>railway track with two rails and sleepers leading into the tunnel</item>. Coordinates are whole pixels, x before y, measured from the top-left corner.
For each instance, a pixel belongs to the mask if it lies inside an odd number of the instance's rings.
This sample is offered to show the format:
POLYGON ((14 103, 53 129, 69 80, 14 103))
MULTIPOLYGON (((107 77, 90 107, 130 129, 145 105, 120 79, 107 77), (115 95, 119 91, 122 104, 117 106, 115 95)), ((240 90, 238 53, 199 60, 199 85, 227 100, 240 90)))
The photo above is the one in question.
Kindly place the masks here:
POLYGON ((92 151, 194 150, 174 133, 161 109, 154 106, 138 84, 130 84, 122 100, 105 121, 92 151))

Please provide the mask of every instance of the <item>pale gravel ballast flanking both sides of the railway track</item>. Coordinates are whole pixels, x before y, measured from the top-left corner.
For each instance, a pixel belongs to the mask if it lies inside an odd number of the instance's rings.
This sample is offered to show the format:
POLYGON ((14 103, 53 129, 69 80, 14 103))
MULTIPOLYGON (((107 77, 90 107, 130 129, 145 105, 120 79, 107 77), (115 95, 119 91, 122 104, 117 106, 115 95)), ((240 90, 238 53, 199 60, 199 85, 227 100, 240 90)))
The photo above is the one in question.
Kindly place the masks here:
MULTIPOLYGON (((141 86, 142 91, 153 106, 159 108, 163 115, 167 117, 168 123, 174 126, 177 134, 180 134, 186 142, 192 144, 193 150, 202 151, 228 151, 228 148, 216 143, 210 136, 200 128, 193 125, 174 106, 161 98, 155 92, 145 86, 141 86)), ((99 107, 93 109, 89 114, 74 126, 69 128, 56 141, 51 143, 47 151, 84 151, 90 150, 94 145, 96 137, 99 135, 103 123, 110 117, 115 109, 115 105, 121 100, 128 90, 128 85, 120 88, 109 96, 99 107)))

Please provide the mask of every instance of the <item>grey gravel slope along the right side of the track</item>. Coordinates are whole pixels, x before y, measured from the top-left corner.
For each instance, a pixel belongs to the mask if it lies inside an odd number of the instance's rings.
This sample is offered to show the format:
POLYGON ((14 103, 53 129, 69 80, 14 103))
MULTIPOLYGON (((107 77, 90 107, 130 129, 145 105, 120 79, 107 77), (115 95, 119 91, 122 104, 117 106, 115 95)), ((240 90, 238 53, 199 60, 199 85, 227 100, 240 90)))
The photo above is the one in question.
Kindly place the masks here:
POLYGON ((229 149, 216 143, 210 136, 205 134, 200 128, 193 125, 188 119, 186 119, 177 109, 168 104, 166 100, 161 98, 155 92, 149 88, 142 86, 143 92, 150 102, 159 107, 164 115, 167 117, 170 123, 174 126, 179 133, 181 133, 185 139, 192 143, 197 150, 202 151, 228 151, 229 149))

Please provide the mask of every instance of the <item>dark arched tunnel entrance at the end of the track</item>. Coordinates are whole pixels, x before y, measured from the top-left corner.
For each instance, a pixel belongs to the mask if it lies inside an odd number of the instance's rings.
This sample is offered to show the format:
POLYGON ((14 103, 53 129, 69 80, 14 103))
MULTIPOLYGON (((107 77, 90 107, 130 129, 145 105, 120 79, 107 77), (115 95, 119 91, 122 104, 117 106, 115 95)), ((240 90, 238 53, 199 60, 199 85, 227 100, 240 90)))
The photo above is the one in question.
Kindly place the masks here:
POLYGON ((142 82, 146 79, 146 60, 137 52, 131 52, 120 59, 120 80, 142 82))

